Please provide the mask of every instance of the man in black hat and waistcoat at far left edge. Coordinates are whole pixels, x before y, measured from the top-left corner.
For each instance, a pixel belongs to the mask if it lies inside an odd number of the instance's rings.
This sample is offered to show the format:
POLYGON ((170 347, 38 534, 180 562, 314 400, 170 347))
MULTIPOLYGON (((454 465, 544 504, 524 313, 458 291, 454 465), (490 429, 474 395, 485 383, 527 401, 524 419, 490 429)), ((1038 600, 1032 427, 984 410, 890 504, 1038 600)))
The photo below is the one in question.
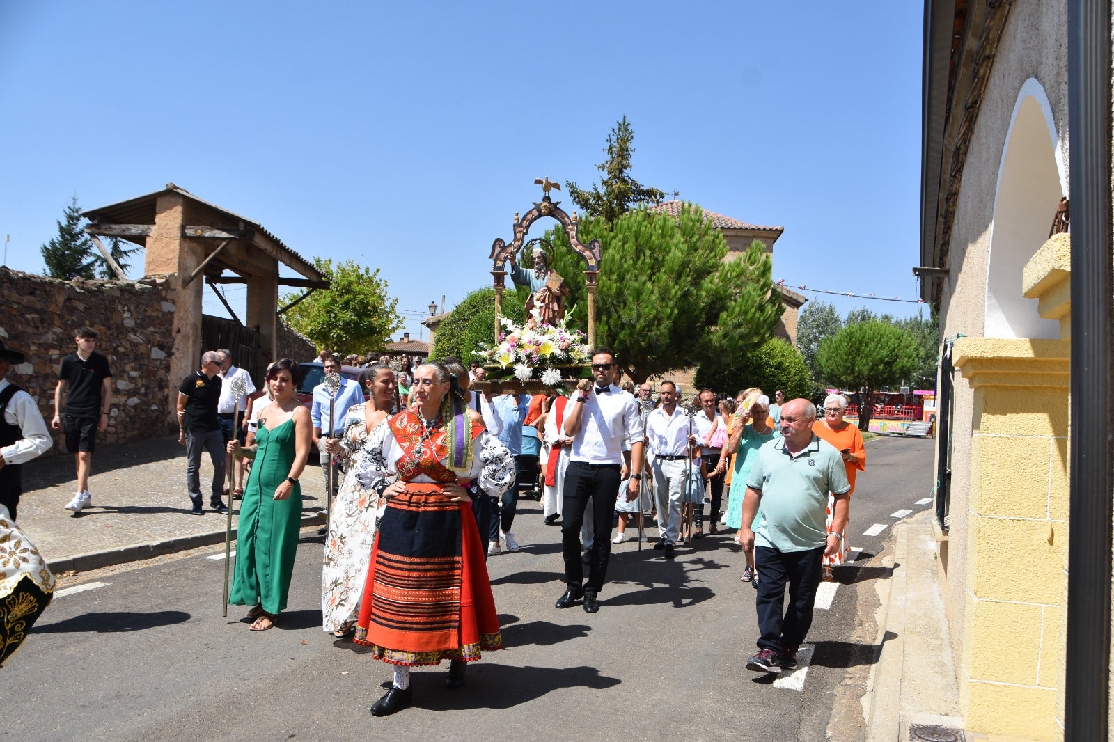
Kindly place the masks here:
POLYGON ((23 491, 21 465, 41 456, 53 442, 31 396, 4 378, 10 364, 23 360, 22 353, 0 343, 0 505, 8 508, 12 520, 23 491))

